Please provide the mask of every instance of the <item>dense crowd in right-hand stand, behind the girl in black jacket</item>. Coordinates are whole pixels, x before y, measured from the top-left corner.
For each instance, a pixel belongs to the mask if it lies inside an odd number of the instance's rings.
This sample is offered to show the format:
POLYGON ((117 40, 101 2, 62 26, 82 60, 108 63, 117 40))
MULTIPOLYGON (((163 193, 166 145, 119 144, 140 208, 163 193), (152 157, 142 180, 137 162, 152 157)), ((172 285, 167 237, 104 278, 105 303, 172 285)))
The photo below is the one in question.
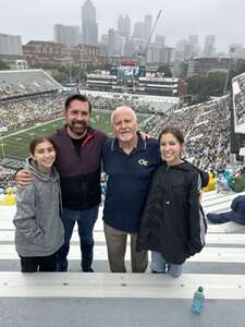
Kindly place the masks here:
POLYGON ((218 170, 229 159, 230 118, 229 97, 208 102, 170 109, 152 129, 158 136, 167 125, 175 125, 186 135, 186 156, 205 169, 218 170))

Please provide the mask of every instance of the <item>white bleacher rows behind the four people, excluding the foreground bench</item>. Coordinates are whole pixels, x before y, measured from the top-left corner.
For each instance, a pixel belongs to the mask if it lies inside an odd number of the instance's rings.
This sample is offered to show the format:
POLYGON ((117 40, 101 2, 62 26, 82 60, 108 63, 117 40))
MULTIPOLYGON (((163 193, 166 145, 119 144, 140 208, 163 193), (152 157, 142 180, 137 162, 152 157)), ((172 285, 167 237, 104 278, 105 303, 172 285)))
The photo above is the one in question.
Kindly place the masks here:
MULTIPOLYGON (((230 206, 231 201, 237 196, 237 194, 218 194, 216 192, 205 193, 203 196, 203 204, 206 209, 209 209, 212 205, 225 205, 230 206)), ((0 269, 1 262, 9 263, 11 267, 11 261, 19 262, 19 256, 14 249, 14 226, 12 223, 12 217, 15 213, 15 207, 1 207, 0 206, 0 269)), ((98 263, 99 267, 105 267, 108 271, 107 265, 101 264, 107 262, 107 247, 103 234, 102 222, 102 207, 99 210, 99 218, 95 226, 95 263, 98 263)), ((209 225, 207 234, 207 245, 200 254, 191 257, 187 266, 198 266, 199 264, 215 265, 215 264, 240 264, 245 263, 245 226, 238 226, 233 222, 226 222, 223 225, 209 225)), ((69 259, 71 266, 75 267, 74 263, 79 262, 81 251, 78 242, 77 228, 74 229, 74 233, 71 242, 71 251, 69 259)), ((130 242, 127 244, 126 261, 130 261, 130 242)), ((211 266, 212 266, 211 265, 211 266)), ((3 265, 4 267, 5 265, 3 265)), ((16 266, 16 264, 15 264, 16 266)), ((79 267, 79 266, 78 266, 79 267)), ((9 270, 9 269, 8 269, 9 270)), ((194 269, 195 270, 195 269, 194 269)), ((206 271, 209 271, 207 268, 206 271)), ((240 270, 240 269, 238 269, 240 270)), ((215 271, 216 274, 216 271, 215 271)))

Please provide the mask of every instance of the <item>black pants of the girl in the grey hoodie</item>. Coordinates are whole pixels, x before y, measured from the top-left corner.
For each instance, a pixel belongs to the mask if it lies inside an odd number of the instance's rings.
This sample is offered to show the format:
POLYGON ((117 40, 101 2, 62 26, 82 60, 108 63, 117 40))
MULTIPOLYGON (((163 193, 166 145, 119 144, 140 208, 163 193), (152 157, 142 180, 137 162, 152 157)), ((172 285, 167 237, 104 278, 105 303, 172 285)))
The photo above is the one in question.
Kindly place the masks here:
POLYGON ((49 256, 20 256, 22 272, 56 271, 57 252, 49 256))

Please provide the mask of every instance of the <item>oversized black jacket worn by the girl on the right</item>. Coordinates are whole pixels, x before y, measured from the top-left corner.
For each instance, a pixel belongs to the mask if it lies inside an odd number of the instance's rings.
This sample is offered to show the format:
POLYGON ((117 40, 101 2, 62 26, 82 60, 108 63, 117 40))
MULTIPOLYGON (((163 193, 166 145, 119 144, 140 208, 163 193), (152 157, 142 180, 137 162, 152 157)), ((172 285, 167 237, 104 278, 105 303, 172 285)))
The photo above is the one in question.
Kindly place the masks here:
POLYGON ((151 250, 167 262, 182 264, 205 244, 198 172, 188 162, 167 166, 154 174, 142 217, 137 251, 151 250))

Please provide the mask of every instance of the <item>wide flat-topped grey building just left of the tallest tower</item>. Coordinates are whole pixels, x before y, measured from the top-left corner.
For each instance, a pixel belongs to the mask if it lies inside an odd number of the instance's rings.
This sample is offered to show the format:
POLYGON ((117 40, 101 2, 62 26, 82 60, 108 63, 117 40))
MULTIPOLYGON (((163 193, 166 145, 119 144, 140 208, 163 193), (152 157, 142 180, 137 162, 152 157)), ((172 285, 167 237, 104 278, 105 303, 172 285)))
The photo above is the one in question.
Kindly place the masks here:
POLYGON ((53 26, 53 39, 72 48, 79 44, 79 27, 56 24, 53 26))

